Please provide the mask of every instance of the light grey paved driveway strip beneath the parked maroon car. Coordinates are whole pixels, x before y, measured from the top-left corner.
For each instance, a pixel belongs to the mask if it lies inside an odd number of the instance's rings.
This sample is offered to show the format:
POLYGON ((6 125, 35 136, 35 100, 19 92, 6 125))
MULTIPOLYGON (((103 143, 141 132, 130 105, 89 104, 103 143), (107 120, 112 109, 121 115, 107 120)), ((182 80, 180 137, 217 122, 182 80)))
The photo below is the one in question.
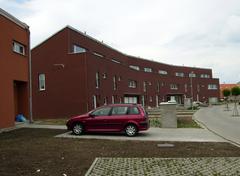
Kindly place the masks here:
POLYGON ((226 142, 223 138, 213 134, 207 129, 196 128, 150 128, 140 132, 135 137, 124 134, 84 134, 76 136, 67 132, 57 137, 78 139, 110 139, 110 140, 140 140, 140 141, 183 141, 183 142, 226 142))

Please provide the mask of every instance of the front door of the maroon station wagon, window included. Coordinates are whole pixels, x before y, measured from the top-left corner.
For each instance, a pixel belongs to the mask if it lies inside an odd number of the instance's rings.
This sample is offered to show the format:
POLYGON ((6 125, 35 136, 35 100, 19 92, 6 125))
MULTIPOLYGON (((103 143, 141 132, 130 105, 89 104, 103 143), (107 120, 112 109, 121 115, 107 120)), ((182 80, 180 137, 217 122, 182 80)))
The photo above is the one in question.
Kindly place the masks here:
POLYGON ((109 119, 111 107, 102 107, 96 109, 85 121, 87 131, 106 131, 108 129, 107 121, 109 119))

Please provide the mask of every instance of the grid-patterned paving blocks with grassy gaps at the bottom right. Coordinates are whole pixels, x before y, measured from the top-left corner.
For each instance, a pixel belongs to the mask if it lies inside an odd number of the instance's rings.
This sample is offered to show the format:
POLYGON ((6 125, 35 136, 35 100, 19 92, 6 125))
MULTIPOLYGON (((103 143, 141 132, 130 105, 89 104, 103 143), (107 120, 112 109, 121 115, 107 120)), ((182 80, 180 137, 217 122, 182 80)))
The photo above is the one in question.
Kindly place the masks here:
POLYGON ((238 176, 240 157, 96 158, 86 176, 238 176))

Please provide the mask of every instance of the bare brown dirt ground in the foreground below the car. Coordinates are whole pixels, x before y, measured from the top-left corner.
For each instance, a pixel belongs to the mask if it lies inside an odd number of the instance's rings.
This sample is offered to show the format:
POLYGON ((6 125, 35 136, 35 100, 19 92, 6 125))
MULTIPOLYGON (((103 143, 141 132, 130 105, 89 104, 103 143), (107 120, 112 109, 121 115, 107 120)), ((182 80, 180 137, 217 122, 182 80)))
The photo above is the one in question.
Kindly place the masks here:
POLYGON ((96 157, 240 157, 228 143, 62 139, 65 130, 19 129, 0 134, 0 176, 84 175, 96 157), (66 175, 65 175, 66 174, 66 175))

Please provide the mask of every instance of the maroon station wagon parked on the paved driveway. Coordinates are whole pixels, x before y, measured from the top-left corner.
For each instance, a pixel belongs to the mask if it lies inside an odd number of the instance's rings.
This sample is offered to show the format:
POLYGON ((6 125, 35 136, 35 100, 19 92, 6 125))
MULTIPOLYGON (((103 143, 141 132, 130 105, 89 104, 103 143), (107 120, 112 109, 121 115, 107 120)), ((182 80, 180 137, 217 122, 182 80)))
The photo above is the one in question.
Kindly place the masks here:
POLYGON ((112 104, 72 117, 66 125, 76 135, 83 132, 125 132, 127 136, 135 136, 149 128, 149 119, 141 105, 112 104))

